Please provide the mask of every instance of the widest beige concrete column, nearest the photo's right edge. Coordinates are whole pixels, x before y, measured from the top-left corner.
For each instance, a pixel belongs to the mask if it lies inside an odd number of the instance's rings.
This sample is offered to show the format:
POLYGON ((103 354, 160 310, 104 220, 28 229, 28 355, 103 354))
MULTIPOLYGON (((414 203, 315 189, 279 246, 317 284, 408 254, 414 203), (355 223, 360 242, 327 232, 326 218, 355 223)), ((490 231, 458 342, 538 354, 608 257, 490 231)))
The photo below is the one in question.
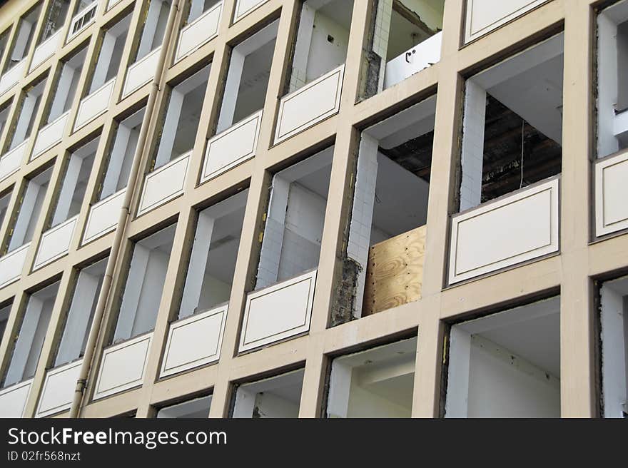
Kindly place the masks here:
POLYGON ((589 116, 592 115, 593 10, 587 0, 565 9, 560 245, 560 393, 563 417, 594 417, 592 280, 588 277, 592 205, 589 116))

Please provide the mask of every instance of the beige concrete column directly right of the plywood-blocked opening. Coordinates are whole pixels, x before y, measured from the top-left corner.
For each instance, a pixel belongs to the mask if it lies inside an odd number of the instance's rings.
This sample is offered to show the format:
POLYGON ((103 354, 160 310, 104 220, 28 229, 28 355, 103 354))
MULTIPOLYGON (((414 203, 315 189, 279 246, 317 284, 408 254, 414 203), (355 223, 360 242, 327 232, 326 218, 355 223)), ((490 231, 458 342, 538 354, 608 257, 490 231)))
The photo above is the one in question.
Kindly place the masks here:
POLYGON ((427 237, 423 263, 422 304, 417 340, 417 359, 412 398, 412 417, 436 417, 440 405, 442 337, 444 325, 441 291, 448 257, 449 216, 457 188, 452 187, 458 156, 462 77, 452 73, 462 35, 462 1, 447 1, 443 19, 442 58, 434 122, 434 145, 427 204, 427 237))

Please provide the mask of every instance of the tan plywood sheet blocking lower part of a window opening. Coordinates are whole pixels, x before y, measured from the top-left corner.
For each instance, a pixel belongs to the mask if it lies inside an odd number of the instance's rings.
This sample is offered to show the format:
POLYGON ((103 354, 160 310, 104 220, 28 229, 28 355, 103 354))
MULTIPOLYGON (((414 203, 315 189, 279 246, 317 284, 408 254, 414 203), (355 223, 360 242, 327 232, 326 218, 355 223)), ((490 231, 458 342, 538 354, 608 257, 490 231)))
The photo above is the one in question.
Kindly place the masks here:
POLYGON ((426 230, 423 225, 370 248, 362 315, 420 299, 426 230))

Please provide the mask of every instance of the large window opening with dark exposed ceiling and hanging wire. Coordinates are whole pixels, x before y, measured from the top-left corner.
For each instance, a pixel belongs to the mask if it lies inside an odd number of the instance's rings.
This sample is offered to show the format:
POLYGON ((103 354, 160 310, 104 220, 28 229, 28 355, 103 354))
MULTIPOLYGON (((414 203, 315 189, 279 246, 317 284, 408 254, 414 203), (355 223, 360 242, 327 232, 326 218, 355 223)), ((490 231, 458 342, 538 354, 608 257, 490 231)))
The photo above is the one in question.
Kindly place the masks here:
POLYGON ((460 211, 557 175, 563 34, 467 80, 460 211))

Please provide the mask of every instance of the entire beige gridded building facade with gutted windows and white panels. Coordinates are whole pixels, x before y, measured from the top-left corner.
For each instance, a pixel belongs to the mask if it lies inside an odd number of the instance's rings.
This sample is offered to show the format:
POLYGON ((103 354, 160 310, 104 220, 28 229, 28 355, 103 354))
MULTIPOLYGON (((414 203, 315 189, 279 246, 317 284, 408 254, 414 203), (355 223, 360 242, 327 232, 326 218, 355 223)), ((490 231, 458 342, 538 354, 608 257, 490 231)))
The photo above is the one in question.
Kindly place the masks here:
POLYGON ((627 44, 628 0, 4 2, 0 415, 625 417, 627 44))

